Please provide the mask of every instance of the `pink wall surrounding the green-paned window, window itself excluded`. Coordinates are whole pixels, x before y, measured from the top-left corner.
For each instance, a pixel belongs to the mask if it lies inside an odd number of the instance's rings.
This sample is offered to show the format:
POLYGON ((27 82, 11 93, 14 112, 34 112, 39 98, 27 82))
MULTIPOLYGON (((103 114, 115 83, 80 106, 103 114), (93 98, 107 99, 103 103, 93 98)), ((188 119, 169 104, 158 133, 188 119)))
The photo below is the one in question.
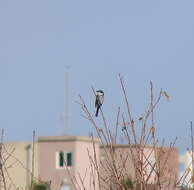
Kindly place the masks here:
MULTIPOLYGON (((40 179, 51 181, 52 190, 62 189, 64 186, 75 189, 75 185, 79 189, 83 189, 79 175, 81 178, 85 176, 84 186, 86 190, 89 189, 91 172, 87 150, 92 156, 92 144, 91 138, 86 137, 40 137, 38 139, 40 179), (56 154, 60 151, 72 153, 72 167, 58 168, 56 166, 56 154)), ((95 147, 98 159, 98 145, 95 147)))

